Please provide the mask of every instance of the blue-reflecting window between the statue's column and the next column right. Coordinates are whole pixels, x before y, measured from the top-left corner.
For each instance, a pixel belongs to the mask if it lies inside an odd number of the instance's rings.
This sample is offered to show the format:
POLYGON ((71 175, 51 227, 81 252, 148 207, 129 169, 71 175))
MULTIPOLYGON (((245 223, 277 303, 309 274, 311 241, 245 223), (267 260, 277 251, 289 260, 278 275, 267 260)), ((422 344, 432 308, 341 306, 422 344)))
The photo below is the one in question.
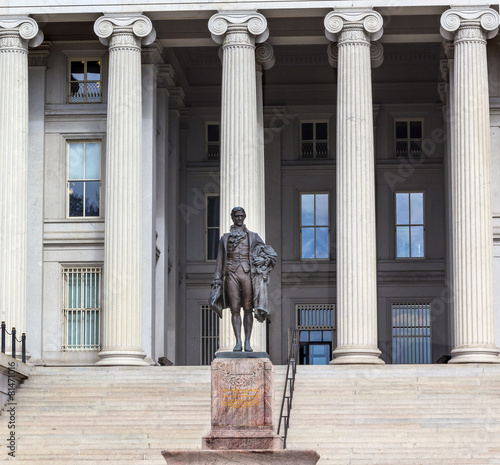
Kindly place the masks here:
POLYGON ((329 195, 301 194, 301 251, 302 259, 330 256, 329 195))

